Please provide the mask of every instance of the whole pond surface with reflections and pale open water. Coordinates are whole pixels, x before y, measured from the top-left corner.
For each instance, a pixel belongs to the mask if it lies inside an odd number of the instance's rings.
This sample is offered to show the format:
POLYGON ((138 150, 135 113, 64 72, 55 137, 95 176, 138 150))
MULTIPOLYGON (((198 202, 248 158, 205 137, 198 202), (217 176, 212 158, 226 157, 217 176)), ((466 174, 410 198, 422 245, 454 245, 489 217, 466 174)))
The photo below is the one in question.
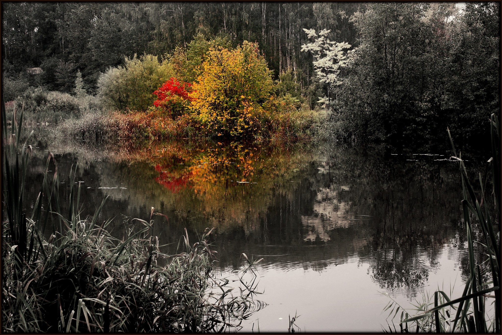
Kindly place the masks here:
MULTIPOLYGON (((41 146, 41 145, 40 145, 41 146)), ((157 217, 155 235, 175 252, 186 228, 196 240, 213 228, 217 270, 263 258, 258 298, 268 304, 244 331, 381 331, 387 292, 403 306, 437 287, 462 290, 466 264, 461 185, 449 152, 393 149, 280 150, 221 143, 60 143, 36 149, 29 187, 38 193, 46 154, 56 153, 61 194, 78 163, 82 213, 104 197, 102 220, 157 217), (46 150, 46 151, 44 151, 46 150)), ((53 166, 49 170, 53 170, 53 166)), ((398 316, 399 317, 399 316, 398 316)), ((390 321, 389 321, 390 322, 390 321)))

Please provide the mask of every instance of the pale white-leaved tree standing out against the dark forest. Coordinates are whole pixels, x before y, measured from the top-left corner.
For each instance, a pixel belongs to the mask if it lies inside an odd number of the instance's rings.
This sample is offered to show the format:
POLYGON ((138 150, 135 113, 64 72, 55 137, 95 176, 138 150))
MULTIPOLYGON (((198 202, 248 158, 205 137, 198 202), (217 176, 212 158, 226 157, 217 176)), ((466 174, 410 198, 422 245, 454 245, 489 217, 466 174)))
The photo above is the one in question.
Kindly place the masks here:
POLYGON ((312 54, 314 57, 312 64, 314 65, 316 78, 320 83, 327 84, 328 86, 328 96, 319 98, 318 101, 325 108, 331 103, 331 91, 337 85, 341 84, 339 78, 340 69, 348 65, 348 56, 353 50, 347 51, 347 49, 351 48, 351 45, 346 42, 331 42, 327 38, 331 30, 323 29, 319 32, 319 35, 316 34, 314 29, 303 29, 303 31, 307 33, 307 37, 310 40, 314 39, 314 41, 302 45, 302 51, 312 54))

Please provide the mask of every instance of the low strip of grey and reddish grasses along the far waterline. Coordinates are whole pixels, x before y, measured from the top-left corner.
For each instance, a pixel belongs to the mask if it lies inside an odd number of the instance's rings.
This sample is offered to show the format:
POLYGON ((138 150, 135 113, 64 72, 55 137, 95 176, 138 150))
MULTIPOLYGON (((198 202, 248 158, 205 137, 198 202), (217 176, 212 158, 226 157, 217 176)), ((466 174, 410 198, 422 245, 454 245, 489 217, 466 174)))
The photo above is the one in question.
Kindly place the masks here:
MULTIPOLYGON (((18 113, 20 109, 17 109, 18 113)), ((14 108, 7 110, 8 120, 12 118, 14 108)), ((276 146, 295 144, 315 144, 322 140, 336 141, 324 126, 327 112, 294 111, 274 123, 267 136, 257 135, 244 141, 253 141, 276 146)), ((232 141, 241 139, 213 136, 204 131, 190 117, 172 119, 160 112, 106 112, 88 109, 81 112, 27 111, 24 120, 26 127, 34 130, 36 136, 66 137, 75 140, 94 140, 119 142, 121 139, 144 142, 152 140, 216 140, 232 141)), ((10 121, 8 121, 10 125, 10 121)))

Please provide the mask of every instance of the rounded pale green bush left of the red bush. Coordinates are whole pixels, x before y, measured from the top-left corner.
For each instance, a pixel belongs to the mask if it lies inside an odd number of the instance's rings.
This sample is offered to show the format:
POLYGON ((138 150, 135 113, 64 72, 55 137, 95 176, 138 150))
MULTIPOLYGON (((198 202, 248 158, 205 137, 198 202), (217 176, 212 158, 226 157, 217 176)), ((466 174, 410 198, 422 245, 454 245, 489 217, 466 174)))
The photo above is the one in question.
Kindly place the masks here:
POLYGON ((152 106, 152 92, 173 76, 174 70, 156 56, 126 58, 124 66, 109 68, 98 80, 98 95, 106 107, 146 111, 152 106))

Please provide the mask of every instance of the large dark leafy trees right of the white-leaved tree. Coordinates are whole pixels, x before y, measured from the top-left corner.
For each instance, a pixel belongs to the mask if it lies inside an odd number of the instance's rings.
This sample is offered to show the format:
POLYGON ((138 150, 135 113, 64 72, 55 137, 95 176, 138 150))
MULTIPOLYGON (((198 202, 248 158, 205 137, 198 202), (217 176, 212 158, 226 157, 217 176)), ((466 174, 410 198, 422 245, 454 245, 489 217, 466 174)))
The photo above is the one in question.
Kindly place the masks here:
POLYGON ((375 3, 351 20, 359 46, 334 106, 343 133, 419 146, 444 142, 450 126, 465 142, 487 138, 480 122, 499 111, 497 5, 375 3))

